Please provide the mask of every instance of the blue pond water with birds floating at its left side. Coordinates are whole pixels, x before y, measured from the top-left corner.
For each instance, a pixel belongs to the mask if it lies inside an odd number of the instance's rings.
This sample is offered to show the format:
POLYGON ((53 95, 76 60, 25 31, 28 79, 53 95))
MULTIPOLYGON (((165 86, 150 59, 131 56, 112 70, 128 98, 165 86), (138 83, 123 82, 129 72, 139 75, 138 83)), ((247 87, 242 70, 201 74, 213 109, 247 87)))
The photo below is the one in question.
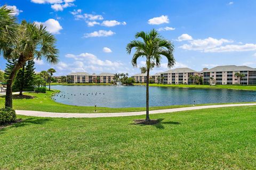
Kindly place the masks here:
MULTIPOLYGON (((59 103, 97 107, 145 107, 145 86, 52 86, 61 90, 53 99, 59 103)), ((256 91, 149 87, 149 106, 231 103, 256 101, 256 91)))

